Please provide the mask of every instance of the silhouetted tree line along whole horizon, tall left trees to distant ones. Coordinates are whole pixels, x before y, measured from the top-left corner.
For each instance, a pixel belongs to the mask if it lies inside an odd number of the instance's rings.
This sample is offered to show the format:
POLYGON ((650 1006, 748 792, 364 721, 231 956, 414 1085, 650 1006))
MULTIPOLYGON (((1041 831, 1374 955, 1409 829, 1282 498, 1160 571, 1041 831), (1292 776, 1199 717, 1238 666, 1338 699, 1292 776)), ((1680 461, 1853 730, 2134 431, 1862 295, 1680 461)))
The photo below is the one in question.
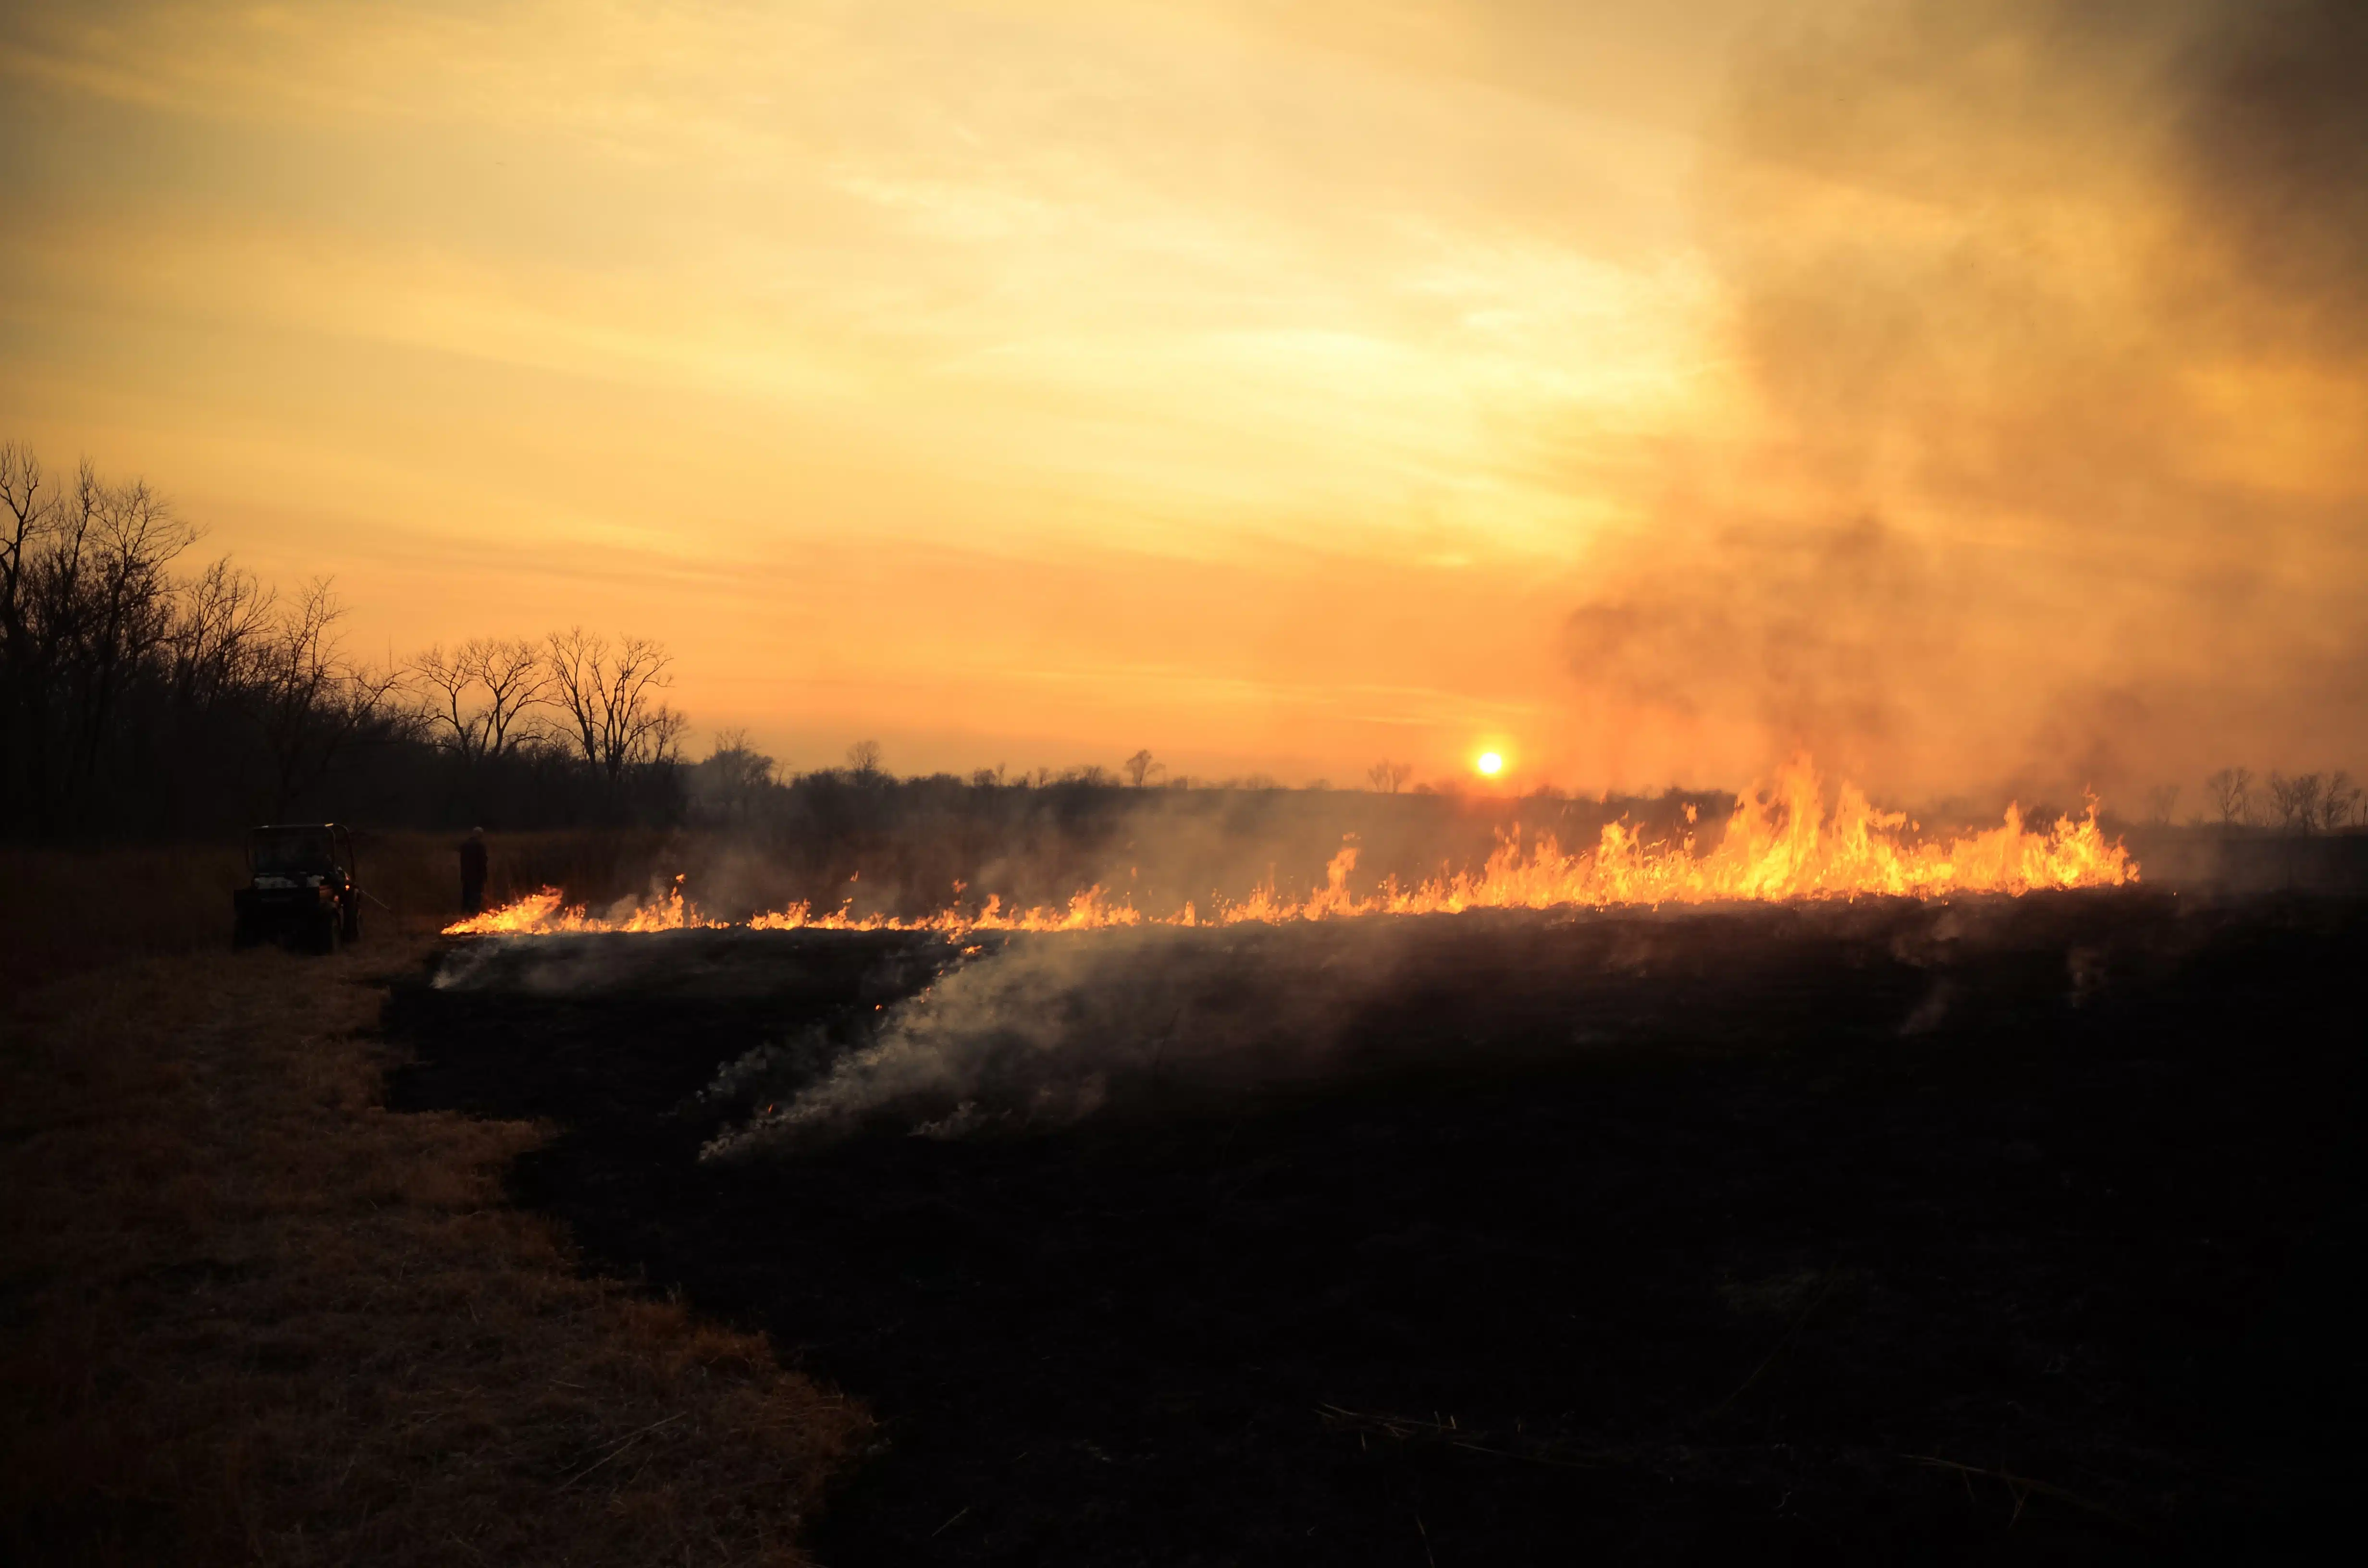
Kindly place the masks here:
MULTIPOLYGON (((661 642, 568 628, 358 661, 343 651, 343 609, 327 578, 282 595, 227 557, 187 568, 199 538, 144 481, 109 483, 88 462, 54 474, 31 448, 0 443, 0 838, 213 836, 329 817, 871 838, 924 803, 924 815, 942 817, 947 791, 976 796, 961 808, 973 827, 1016 831, 1073 824, 1080 812, 1103 820, 1120 798, 1283 789, 1272 775, 1177 775, 1151 748, 1115 770, 997 763, 897 779, 871 739, 852 744, 843 767, 786 775, 746 732, 722 732, 706 760, 689 763, 689 720, 668 703, 673 658, 661 642)), ((2250 801, 2250 775, 2233 772, 2250 801)), ((1423 796, 1461 789, 1411 779, 1407 763, 1366 770, 1381 796, 1409 784, 1423 796)), ((2344 775, 2306 775, 2292 789, 2304 784, 2311 822, 2332 822, 2337 803, 2356 810, 2344 775)), ((2273 775, 2278 801, 2285 789, 2273 775)), ((1307 791, 1331 784, 1314 779, 1307 791)), ((1553 820, 1568 798, 1539 786, 1527 801, 1553 820)), ((1686 803, 1717 801, 1731 805, 1672 786, 1620 810, 1674 822, 1686 803)))

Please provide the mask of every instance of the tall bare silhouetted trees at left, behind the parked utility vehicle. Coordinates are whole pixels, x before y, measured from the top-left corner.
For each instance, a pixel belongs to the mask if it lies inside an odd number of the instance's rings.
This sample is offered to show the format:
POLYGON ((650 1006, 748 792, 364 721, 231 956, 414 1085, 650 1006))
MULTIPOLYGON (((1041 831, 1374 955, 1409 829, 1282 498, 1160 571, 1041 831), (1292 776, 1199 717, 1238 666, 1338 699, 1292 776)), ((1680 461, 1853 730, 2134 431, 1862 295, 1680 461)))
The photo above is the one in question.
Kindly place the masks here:
POLYGON ((488 739, 476 706, 429 701, 433 658, 346 658, 327 580, 279 595, 230 559, 182 571, 197 538, 147 483, 0 445, 0 836, 680 820, 656 644, 533 644, 488 739))

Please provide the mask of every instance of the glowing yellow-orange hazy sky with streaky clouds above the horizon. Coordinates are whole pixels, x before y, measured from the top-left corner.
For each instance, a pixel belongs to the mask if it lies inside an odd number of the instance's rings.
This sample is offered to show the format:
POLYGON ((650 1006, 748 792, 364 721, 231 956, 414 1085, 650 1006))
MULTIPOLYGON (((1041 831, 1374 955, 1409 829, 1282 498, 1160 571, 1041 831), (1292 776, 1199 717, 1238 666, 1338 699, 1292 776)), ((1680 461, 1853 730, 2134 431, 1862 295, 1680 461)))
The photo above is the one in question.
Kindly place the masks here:
POLYGON ((2219 12, 1887 9, 9 7, 0 433, 798 767, 2351 760, 2359 346, 2164 346, 2202 197, 2096 149, 2219 12))

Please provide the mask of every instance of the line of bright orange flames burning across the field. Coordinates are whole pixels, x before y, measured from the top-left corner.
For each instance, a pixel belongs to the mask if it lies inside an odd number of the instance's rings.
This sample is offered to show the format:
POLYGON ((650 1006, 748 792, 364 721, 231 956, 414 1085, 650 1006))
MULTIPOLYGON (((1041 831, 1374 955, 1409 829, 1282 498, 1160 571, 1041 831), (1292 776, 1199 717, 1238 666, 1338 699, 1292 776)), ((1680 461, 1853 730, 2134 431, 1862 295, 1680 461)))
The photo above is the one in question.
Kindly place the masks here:
MULTIPOLYGON (((2022 824, 2018 808, 1982 834, 1916 841, 1904 812, 1875 810, 1861 789, 1842 784, 1828 810, 1823 786, 1807 758, 1776 775, 1774 789, 1743 796, 1726 831, 1710 850, 1695 850, 1688 834, 1679 843, 1643 843, 1624 822, 1603 829, 1594 848, 1563 850, 1551 834, 1523 841, 1506 831, 1478 872, 1440 874, 1416 886, 1385 879, 1373 893, 1350 891, 1357 846, 1343 846, 1326 867, 1324 886, 1307 898, 1279 893, 1274 883, 1243 900, 1217 900, 1208 912, 1184 905, 1172 914, 1144 914, 1113 900, 1099 886, 1068 905, 1006 910, 990 898, 983 907, 947 907, 921 919, 855 917, 848 910, 815 914, 791 905, 746 921, 758 931, 1103 931, 1111 926, 1212 926, 1236 921, 1357 919, 1369 914, 1456 914, 1463 910, 1551 910, 1558 905, 1662 905, 1793 898, 1944 898, 1951 893, 2029 893, 2034 888, 2115 888, 2138 881, 2138 867, 2119 841, 2108 843, 2096 820, 2096 801, 2081 817, 2060 817, 2044 831, 2022 824)), ((561 931, 684 931, 725 926, 706 919, 682 898, 682 879, 665 898, 611 917, 587 917, 545 888, 514 905, 448 926, 452 936, 561 933, 561 931)))

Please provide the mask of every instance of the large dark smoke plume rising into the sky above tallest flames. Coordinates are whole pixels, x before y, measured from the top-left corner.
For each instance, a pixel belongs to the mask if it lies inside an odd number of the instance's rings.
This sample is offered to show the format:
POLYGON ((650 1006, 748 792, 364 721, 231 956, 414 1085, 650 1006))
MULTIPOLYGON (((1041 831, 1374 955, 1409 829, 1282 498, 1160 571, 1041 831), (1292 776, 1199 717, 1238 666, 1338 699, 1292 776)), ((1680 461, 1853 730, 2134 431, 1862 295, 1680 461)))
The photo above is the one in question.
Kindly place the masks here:
POLYGON ((1916 0, 1759 36, 1705 168, 1752 415, 1568 656, 1610 770, 2134 793, 2368 737, 2368 17, 1916 0))

